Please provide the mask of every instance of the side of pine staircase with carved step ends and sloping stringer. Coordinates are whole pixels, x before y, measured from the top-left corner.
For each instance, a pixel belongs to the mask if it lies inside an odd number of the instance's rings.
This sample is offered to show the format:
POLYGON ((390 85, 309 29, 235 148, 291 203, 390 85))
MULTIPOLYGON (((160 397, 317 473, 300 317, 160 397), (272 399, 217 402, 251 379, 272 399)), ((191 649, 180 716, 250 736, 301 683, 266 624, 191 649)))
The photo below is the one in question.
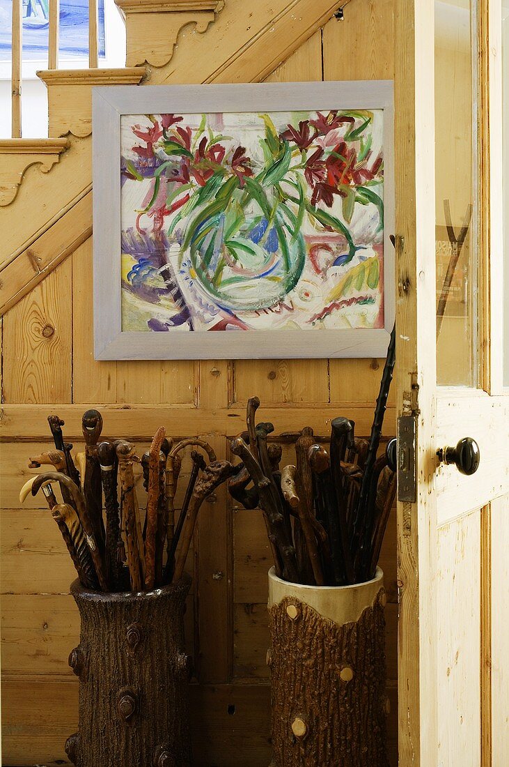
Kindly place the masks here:
POLYGON ((50 137, 0 140, 0 314, 91 235, 92 87, 262 81, 338 10, 338 0, 116 4, 127 67, 39 72, 50 137))

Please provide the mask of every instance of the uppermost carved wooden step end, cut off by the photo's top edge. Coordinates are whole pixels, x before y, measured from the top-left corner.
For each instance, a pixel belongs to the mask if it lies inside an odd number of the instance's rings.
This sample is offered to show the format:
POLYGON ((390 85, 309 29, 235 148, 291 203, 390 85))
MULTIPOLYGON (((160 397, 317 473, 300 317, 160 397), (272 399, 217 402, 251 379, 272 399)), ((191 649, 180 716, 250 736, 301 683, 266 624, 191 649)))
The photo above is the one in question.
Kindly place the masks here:
POLYGON ((126 18, 128 67, 168 64, 178 34, 194 24, 191 35, 203 34, 224 8, 224 0, 115 0, 126 18))

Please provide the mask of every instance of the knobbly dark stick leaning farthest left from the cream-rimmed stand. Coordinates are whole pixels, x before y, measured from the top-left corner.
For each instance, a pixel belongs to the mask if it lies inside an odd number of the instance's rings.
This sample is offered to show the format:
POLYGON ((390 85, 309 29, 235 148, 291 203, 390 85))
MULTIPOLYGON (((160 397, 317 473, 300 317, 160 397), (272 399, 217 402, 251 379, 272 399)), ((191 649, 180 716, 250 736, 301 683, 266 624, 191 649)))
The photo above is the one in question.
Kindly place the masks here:
POLYGON ((279 496, 278 502, 276 503, 272 493, 271 480, 264 476, 259 463, 254 458, 253 454, 250 453, 250 449, 244 440, 237 437, 232 440, 230 446, 232 453, 239 456, 243 461, 244 466, 246 466, 246 469, 250 472, 253 482, 258 489, 259 502, 265 512, 264 518, 266 521, 269 541, 272 545, 272 551, 276 551, 278 556, 275 561, 276 571, 282 569, 282 577, 285 578, 285 580, 291 581, 292 583, 298 583, 299 571, 297 569, 297 560, 295 558, 295 547, 293 543, 289 541, 287 535, 279 496))

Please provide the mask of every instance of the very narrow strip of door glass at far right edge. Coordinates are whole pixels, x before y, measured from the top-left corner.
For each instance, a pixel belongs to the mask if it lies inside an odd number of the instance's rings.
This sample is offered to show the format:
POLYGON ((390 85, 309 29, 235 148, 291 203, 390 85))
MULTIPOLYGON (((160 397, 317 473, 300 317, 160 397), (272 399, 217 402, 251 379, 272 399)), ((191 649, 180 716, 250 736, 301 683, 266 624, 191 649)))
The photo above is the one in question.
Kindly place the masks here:
POLYGON ((504 163, 504 386, 509 387, 509 0, 502 0, 502 130, 504 163))

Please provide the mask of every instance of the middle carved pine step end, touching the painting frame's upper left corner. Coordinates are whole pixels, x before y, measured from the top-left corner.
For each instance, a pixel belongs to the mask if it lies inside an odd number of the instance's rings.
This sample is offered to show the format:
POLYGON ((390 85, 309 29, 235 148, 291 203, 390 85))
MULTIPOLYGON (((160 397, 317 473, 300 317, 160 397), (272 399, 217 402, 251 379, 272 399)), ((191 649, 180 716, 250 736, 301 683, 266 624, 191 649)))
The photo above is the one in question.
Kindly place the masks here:
POLYGON ((92 133, 94 85, 138 85, 145 67, 126 69, 51 69, 38 72, 47 87, 51 136, 85 137, 92 133))

